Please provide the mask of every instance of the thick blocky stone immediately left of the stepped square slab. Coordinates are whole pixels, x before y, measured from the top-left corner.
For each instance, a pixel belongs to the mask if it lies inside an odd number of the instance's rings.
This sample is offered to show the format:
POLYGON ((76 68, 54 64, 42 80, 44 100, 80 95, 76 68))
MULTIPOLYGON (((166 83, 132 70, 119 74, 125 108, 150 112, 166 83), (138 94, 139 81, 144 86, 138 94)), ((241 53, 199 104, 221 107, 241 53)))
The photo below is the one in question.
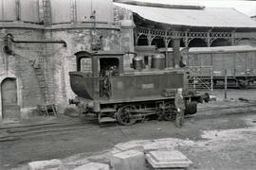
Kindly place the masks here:
POLYGON ((113 170, 146 170, 144 153, 137 150, 128 150, 113 155, 111 165, 113 170))

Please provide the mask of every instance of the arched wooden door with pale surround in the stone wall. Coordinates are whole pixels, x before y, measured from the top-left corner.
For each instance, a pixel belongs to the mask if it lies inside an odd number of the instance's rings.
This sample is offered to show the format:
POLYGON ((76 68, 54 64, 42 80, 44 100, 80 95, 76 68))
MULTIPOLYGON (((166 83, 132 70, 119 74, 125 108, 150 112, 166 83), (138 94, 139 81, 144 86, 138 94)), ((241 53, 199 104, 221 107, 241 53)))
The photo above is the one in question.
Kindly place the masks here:
POLYGON ((18 105, 17 79, 6 77, 1 82, 2 119, 20 119, 20 107, 18 105))

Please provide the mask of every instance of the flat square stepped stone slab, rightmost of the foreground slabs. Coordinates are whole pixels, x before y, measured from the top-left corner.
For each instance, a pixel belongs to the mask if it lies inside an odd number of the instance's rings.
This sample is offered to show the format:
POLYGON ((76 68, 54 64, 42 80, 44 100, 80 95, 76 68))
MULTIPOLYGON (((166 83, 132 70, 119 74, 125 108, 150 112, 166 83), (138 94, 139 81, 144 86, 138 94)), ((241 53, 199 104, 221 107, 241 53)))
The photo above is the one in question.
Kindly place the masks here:
POLYGON ((172 151, 151 151, 146 154, 147 161, 154 168, 185 168, 192 164, 185 155, 177 150, 172 151))

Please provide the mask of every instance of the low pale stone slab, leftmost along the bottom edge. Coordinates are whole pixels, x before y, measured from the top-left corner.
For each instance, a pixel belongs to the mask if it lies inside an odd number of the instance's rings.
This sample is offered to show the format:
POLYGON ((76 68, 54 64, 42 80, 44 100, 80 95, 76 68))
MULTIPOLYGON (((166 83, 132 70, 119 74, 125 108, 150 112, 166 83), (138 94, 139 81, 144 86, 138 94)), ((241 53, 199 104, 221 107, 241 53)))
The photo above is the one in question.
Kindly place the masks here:
POLYGON ((29 170, 57 170, 62 169, 63 162, 57 159, 47 161, 31 161, 28 163, 29 170))

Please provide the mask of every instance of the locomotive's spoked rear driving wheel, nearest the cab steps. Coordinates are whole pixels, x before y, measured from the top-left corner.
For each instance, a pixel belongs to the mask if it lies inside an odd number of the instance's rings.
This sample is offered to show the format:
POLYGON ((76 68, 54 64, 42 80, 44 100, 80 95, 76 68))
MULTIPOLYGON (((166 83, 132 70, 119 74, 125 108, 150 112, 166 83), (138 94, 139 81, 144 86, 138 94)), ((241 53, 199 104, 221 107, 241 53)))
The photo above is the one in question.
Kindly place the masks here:
POLYGON ((120 125, 130 126, 136 123, 137 119, 133 117, 132 110, 136 110, 136 107, 133 105, 126 105, 119 108, 117 119, 120 125))

